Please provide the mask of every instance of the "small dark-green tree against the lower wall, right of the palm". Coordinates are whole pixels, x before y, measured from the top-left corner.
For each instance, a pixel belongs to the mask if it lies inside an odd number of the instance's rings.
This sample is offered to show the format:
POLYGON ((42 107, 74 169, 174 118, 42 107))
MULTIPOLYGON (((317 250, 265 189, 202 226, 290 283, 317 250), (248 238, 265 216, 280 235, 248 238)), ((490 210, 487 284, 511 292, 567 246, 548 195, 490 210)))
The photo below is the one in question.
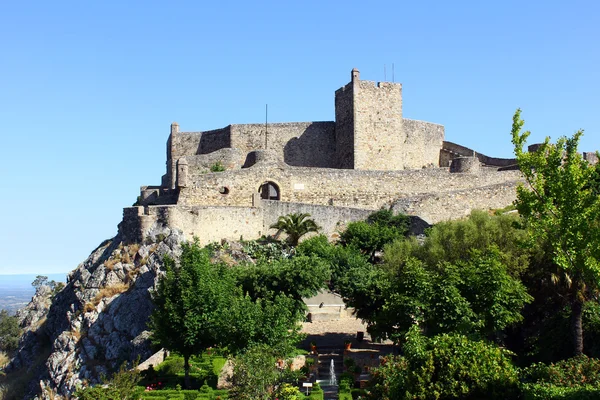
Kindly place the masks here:
POLYGON ((366 221, 349 223, 340 240, 343 245, 356 247, 374 261, 375 253, 383 250, 385 244, 404 237, 408 225, 407 216, 381 209, 369 215, 366 221))

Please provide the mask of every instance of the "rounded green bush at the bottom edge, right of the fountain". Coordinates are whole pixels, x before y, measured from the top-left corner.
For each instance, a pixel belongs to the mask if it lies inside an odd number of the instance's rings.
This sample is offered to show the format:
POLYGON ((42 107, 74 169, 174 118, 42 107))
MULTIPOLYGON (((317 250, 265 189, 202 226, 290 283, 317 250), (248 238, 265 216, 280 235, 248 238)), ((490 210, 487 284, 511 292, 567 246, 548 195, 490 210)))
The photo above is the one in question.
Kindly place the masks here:
POLYGON ((417 327, 407 335, 404 356, 389 357, 374 371, 378 399, 511 399, 518 397, 518 373, 510 353, 466 336, 431 339, 417 327))

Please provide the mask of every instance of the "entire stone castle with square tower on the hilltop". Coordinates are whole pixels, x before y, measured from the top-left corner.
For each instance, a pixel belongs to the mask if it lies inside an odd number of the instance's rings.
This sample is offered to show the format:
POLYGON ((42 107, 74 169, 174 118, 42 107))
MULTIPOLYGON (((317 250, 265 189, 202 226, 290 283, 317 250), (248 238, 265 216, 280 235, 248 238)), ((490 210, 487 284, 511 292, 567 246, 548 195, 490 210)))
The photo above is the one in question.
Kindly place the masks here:
POLYGON ((382 207, 427 223, 508 206, 514 159, 444 139, 444 127, 402 115, 402 85, 360 79, 335 92, 335 121, 229 125, 181 132, 171 125, 160 186, 143 186, 120 233, 142 240, 155 224, 202 244, 269 233, 281 215, 307 212, 335 237, 382 207))

